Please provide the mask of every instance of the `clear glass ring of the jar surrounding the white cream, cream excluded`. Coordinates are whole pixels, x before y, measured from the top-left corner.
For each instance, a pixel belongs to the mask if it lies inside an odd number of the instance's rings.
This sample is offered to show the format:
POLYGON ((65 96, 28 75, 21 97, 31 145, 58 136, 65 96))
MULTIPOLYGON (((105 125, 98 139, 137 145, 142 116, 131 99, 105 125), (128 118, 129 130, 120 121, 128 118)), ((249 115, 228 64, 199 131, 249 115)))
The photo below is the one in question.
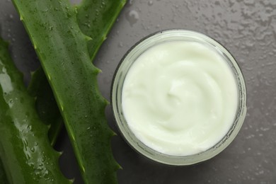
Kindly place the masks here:
POLYGON ((197 33, 191 30, 164 30, 144 38, 136 45, 134 45, 125 54, 125 57, 122 58, 113 78, 111 105, 113 108, 113 115, 115 117, 115 121, 117 123, 118 129, 120 130, 120 133, 134 150, 138 151, 140 154, 146 156, 147 158, 159 163, 166 163, 173 166, 185 166, 199 163, 201 161, 210 159, 213 156, 216 156, 233 141, 233 139, 236 137, 236 134, 238 134, 238 131, 241 129, 243 121, 246 117, 246 85, 243 79, 243 74, 241 73, 241 69, 236 63, 236 60, 217 41, 209 38, 207 35, 203 35, 202 33, 197 33), (130 127, 127 124, 127 120, 125 120, 124 112, 122 110, 123 84, 127 72, 129 71, 130 67, 132 67, 132 64, 136 61, 136 59, 141 54, 143 54, 143 52, 153 47, 154 45, 158 45, 162 42, 179 40, 199 42, 204 45, 208 45, 209 47, 212 47, 214 50, 216 50, 217 53, 219 53, 222 58, 224 58, 225 62, 229 64, 229 67, 233 71, 234 77, 236 79, 236 86, 238 88, 238 107, 236 110, 234 122, 231 125, 229 131, 225 134, 223 139, 221 139, 210 149, 202 151, 198 154, 192 154, 188 156, 172 156, 162 154, 154 149, 149 148, 149 146, 146 146, 134 135, 132 130, 130 130, 130 127))

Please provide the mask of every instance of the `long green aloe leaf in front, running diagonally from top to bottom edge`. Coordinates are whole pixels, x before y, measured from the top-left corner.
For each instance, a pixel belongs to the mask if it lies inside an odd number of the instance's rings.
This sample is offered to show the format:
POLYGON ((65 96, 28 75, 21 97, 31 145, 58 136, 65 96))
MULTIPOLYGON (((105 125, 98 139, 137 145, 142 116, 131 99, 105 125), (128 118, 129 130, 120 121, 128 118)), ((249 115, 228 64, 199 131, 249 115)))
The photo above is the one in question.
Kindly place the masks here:
POLYGON ((64 119, 85 183, 117 183, 88 36, 81 33, 69 1, 13 0, 33 42, 64 119))

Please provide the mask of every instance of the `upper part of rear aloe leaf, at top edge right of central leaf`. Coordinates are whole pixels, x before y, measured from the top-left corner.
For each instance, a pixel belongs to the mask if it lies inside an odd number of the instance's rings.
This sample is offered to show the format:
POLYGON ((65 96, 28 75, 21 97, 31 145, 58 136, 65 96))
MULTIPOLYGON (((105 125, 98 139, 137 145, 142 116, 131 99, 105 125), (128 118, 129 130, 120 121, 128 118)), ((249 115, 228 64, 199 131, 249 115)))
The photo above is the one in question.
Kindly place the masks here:
POLYGON ((91 59, 96 56, 126 0, 83 0, 76 6, 76 17, 81 31, 92 38, 88 42, 91 59))

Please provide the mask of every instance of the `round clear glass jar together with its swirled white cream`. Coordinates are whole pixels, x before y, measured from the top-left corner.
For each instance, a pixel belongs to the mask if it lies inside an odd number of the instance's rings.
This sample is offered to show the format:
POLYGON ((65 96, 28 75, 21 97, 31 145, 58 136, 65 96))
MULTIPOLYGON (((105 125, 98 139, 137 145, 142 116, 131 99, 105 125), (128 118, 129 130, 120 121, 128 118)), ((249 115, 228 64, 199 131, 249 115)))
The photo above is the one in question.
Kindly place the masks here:
POLYGON ((169 165, 219 154, 246 116, 246 86, 234 57, 190 30, 166 30, 134 45, 117 67, 111 103, 122 136, 169 165))

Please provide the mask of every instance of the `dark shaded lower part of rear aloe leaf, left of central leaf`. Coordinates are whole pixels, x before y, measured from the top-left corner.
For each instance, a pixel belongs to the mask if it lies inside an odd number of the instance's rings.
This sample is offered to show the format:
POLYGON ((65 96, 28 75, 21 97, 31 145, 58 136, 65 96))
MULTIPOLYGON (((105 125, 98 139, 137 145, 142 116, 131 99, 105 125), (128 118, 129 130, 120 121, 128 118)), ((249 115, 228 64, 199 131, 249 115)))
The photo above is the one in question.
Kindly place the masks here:
POLYGON ((52 89, 41 67, 32 73, 28 92, 30 96, 35 98, 35 107, 40 120, 45 125, 50 126, 48 137, 50 144, 54 146, 59 132, 62 129, 63 121, 52 89))

